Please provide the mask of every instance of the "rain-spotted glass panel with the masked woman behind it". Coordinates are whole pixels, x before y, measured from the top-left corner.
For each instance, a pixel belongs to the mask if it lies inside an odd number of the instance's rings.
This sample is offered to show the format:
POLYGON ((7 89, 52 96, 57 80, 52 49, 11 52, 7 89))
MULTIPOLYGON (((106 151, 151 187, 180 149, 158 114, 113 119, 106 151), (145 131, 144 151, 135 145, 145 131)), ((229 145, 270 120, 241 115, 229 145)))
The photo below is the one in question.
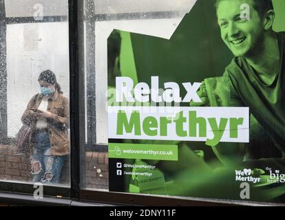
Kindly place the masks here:
MULTIPOLYGON (((6 1, 6 15, 30 16, 36 2, 6 1)), ((68 13, 65 0, 44 1, 42 6, 49 16, 68 13)), ((1 74, 0 179, 69 186, 68 22, 20 18, 5 27, 1 28, 6 37, 1 38, 5 72, 1 74)))

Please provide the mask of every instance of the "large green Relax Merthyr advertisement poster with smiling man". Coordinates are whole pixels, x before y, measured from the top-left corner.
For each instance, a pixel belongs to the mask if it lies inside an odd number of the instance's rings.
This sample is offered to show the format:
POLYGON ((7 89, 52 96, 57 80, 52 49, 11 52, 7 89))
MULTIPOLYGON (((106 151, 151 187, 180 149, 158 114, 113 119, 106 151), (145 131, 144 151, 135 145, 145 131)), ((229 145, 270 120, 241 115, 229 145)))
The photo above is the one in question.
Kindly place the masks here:
POLYGON ((285 203, 285 1, 197 0, 107 40, 109 190, 285 203))

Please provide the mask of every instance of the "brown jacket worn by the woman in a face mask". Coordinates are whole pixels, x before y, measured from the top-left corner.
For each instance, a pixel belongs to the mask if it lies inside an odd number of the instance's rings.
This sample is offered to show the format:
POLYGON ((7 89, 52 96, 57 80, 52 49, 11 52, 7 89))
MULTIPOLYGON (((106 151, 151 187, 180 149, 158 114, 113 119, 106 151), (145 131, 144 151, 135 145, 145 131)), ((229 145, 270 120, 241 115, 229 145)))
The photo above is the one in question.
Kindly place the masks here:
MULTIPOLYGON (((32 126, 33 132, 37 131, 35 126, 37 119, 34 109, 38 109, 42 99, 42 94, 33 96, 21 118, 23 124, 32 126)), ((52 118, 47 119, 47 131, 50 133, 52 155, 67 155, 70 153, 70 142, 67 133, 70 124, 70 105, 67 98, 55 91, 52 98, 48 100, 47 111, 52 113, 52 118)))

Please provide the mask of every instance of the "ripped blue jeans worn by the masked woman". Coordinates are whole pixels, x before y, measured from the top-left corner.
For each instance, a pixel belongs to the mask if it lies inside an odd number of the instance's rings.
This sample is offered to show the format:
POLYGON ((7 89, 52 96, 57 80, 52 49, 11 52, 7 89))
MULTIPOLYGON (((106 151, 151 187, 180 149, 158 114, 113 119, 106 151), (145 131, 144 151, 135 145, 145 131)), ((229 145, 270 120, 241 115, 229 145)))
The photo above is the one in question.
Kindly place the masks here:
POLYGON ((46 131, 34 135, 32 175, 34 182, 58 184, 67 155, 52 155, 50 134, 46 131))

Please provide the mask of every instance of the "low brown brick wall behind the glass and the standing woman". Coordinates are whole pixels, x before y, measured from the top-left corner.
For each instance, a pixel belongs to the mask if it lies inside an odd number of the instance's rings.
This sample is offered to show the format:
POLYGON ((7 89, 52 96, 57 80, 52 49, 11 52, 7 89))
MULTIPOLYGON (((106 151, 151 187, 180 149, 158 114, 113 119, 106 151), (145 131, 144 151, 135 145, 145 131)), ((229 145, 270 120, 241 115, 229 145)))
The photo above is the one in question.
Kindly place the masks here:
MULTIPOLYGON (((68 160, 63 167, 61 184, 68 184, 70 169, 68 160)), ((86 152, 85 160, 87 188, 108 189, 108 154, 86 152)), ((32 181, 30 155, 14 153, 11 146, 0 144, 0 179, 32 181)))

